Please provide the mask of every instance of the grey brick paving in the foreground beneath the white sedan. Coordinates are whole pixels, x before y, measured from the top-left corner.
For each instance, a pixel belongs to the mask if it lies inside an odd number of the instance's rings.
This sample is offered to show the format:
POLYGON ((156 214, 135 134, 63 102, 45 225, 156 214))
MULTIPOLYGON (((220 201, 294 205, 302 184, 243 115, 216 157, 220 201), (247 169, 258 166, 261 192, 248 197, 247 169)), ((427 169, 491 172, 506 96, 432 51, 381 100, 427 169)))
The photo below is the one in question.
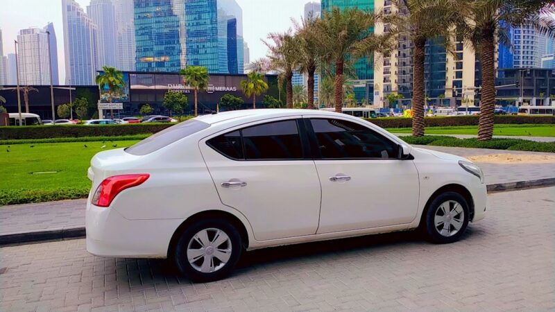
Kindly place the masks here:
POLYGON ((462 241, 412 233, 259 250, 190 284, 162 260, 107 259, 83 239, 0 248, 0 311, 549 311, 555 187, 490 196, 462 241))

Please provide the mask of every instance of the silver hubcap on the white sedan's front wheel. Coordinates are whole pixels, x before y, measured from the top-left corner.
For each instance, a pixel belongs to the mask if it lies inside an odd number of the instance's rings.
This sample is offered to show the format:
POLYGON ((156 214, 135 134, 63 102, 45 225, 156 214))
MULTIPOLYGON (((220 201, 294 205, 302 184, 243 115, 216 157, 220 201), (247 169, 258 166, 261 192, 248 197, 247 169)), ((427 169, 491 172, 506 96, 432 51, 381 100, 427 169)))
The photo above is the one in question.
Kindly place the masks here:
POLYGON ((459 202, 447 200, 439 205, 434 217, 434 225, 439 234, 445 237, 457 234, 464 222, 464 210, 459 202))

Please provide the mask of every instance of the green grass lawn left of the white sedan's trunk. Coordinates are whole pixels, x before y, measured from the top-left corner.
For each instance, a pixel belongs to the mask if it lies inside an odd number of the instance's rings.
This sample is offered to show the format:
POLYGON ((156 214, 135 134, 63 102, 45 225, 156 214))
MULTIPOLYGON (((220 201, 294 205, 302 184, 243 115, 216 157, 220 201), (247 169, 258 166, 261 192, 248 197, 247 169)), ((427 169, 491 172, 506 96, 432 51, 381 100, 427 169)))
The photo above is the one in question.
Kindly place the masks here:
POLYGON ((122 148, 136 142, 106 141, 103 149, 102 141, 1 145, 0 205, 82 198, 91 186, 91 158, 113 145, 122 148))

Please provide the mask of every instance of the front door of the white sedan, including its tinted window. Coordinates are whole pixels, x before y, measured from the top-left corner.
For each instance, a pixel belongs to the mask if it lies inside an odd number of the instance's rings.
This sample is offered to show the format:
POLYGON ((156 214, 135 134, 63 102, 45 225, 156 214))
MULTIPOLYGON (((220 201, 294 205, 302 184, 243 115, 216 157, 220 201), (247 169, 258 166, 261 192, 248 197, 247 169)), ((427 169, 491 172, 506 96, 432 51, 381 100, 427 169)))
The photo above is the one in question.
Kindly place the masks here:
POLYGON ((318 234, 410 223, 418 210, 418 171, 399 146, 364 123, 307 119, 322 187, 318 234))

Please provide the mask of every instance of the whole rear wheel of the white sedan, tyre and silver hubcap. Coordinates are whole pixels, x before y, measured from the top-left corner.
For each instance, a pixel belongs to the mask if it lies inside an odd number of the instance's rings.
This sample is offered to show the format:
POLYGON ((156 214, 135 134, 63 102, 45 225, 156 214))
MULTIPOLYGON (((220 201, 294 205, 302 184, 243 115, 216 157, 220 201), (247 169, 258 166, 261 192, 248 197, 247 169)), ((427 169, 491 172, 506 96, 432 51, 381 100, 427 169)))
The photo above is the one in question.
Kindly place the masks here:
POLYGON ((189 225, 176 244, 176 266, 192 281, 215 281, 232 272, 241 257, 241 236, 226 220, 211 218, 189 225))

